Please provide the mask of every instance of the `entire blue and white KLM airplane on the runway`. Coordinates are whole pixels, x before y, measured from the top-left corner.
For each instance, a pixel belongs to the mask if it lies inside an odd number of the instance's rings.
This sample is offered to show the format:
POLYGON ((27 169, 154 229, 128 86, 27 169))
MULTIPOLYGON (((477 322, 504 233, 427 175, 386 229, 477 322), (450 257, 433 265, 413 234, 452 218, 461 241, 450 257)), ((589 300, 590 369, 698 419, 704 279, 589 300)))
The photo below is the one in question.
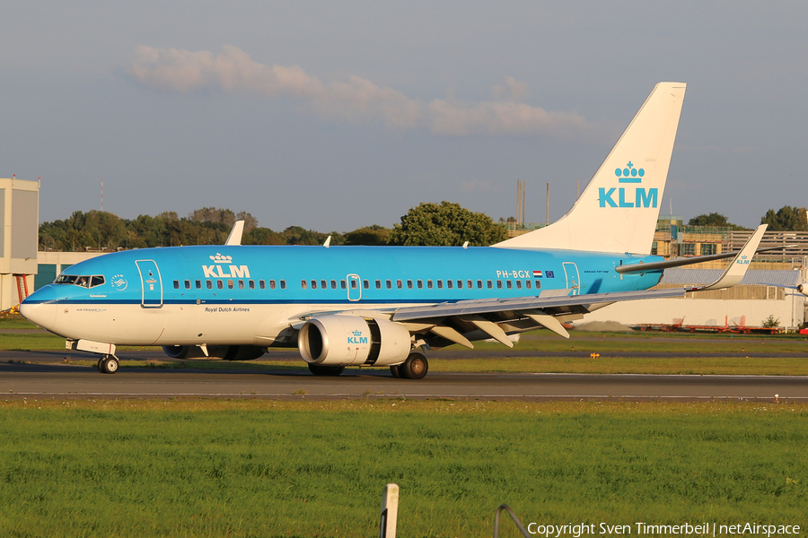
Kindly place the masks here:
POLYGON ((22 302, 22 316, 119 368, 118 345, 171 357, 250 360, 297 347, 314 375, 389 367, 420 379, 424 351, 546 328, 622 300, 681 297, 648 290, 663 269, 734 256, 698 290, 741 281, 765 229, 738 253, 649 256, 685 84, 661 82, 573 208, 493 247, 224 246, 128 250, 73 265, 22 302))

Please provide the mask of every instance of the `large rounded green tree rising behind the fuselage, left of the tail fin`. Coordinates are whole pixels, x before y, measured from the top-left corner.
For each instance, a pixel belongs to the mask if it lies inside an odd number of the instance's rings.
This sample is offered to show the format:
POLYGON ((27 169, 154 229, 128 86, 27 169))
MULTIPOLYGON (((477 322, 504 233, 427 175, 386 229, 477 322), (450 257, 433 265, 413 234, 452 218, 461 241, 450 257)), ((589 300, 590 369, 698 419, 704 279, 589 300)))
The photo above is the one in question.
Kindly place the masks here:
POLYGON ((473 213, 460 204, 422 203, 401 217, 390 232, 391 245, 470 245, 486 247, 507 239, 508 230, 484 213, 473 213))

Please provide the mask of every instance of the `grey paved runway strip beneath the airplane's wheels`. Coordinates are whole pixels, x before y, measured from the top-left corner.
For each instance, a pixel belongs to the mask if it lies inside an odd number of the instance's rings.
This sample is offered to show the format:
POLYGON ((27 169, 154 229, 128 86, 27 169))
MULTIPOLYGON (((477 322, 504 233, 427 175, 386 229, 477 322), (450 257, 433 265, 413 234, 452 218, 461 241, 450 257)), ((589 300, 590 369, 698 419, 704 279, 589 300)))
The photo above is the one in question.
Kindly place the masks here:
MULTIPOLYGON (((298 369, 121 369, 100 374, 59 364, 64 351, 0 351, 3 398, 275 398, 458 400, 761 400, 808 401, 808 377, 430 373, 413 381, 387 369, 347 369, 314 377, 298 369), (20 364, 36 355, 43 363, 20 364), (10 363, 9 360, 14 362, 10 363)), ((86 355, 80 355, 86 360, 86 355)), ((40 362, 38 360, 38 362, 40 362)), ((126 364, 126 361, 123 361, 126 364)), ((297 364, 296 362, 290 364, 297 364)))

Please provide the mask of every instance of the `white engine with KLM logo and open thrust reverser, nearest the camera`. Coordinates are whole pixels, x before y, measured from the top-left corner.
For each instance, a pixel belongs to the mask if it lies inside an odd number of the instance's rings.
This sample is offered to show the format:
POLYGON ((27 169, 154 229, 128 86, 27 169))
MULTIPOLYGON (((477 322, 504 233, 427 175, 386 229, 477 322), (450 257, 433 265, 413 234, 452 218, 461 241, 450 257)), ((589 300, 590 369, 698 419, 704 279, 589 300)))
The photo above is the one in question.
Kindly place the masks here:
POLYGON ((391 366, 407 360, 411 348, 407 327, 386 319, 316 317, 297 335, 303 360, 322 366, 391 366))

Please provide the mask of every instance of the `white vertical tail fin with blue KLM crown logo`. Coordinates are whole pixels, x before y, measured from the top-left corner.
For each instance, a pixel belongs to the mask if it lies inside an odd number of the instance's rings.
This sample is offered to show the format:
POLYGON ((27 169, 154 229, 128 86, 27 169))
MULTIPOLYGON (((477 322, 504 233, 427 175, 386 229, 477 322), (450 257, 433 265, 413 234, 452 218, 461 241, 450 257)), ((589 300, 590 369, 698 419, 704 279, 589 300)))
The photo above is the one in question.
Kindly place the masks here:
POLYGON ((654 87, 569 213, 494 247, 650 254, 685 87, 654 87))

